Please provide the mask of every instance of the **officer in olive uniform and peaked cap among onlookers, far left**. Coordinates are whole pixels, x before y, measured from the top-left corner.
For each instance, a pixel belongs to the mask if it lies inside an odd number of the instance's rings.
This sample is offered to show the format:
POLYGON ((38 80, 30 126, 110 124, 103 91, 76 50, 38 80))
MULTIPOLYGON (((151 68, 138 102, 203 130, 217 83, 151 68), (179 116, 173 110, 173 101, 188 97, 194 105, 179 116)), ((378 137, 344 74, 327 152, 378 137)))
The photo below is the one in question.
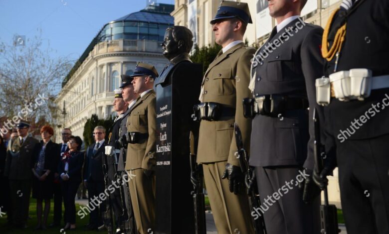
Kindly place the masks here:
POLYGON ((17 124, 18 137, 10 142, 4 174, 9 179, 13 224, 27 227, 28 207, 31 194, 31 168, 33 159, 39 153, 39 141, 28 136, 30 125, 20 121, 17 124))

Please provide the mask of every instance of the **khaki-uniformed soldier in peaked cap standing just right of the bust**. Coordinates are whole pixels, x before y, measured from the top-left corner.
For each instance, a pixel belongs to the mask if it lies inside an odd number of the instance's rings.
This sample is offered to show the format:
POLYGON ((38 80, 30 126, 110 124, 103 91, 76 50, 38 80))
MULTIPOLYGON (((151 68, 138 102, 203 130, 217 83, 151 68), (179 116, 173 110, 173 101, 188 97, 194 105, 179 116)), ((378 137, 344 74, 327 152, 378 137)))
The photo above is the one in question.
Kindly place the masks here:
POLYGON ((250 96, 247 89, 250 59, 255 52, 242 41, 247 24, 252 23, 247 3, 222 1, 210 23, 215 42, 223 48, 209 64, 202 80, 201 103, 197 108, 203 114, 197 163, 202 164, 217 232, 253 233, 248 198, 242 188, 243 176, 239 160, 234 156, 237 148, 233 137, 234 122, 237 122, 244 145, 249 148, 251 124, 243 117, 241 105, 243 98, 250 96))

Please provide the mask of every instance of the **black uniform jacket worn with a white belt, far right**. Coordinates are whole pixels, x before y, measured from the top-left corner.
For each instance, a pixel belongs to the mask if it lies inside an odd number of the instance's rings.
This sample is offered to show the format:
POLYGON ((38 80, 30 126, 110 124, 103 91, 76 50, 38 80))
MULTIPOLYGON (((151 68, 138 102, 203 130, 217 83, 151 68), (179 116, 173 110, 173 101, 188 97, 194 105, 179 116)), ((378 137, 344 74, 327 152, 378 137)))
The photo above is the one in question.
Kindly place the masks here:
MULTIPOLYGON (((340 52, 337 71, 367 68, 372 70, 373 76, 389 75, 389 1, 364 0, 357 6, 358 2, 351 7, 354 12, 347 17, 346 38, 340 52), (355 6, 357 8, 354 9, 355 6)), ((338 17, 334 19, 333 24, 337 20, 338 17)), ((330 32, 333 30, 337 29, 331 26, 330 32)), ((334 73, 335 58, 326 65, 325 75, 334 73)), ((389 99, 386 95, 389 96, 388 88, 372 90, 370 97, 364 101, 342 102, 332 98, 330 105, 325 108, 326 130, 332 140, 343 142, 388 134, 389 107, 385 105, 389 104, 389 99), (376 109, 373 105, 376 105, 376 109), (363 116, 365 122, 359 120, 363 116), (356 123, 355 119, 359 120, 359 123, 356 123), (351 122, 354 122, 355 127, 351 127, 351 122), (353 134, 342 134, 341 131, 353 134)), ((326 148, 331 147, 328 146, 329 142, 331 141, 327 141, 326 148)))

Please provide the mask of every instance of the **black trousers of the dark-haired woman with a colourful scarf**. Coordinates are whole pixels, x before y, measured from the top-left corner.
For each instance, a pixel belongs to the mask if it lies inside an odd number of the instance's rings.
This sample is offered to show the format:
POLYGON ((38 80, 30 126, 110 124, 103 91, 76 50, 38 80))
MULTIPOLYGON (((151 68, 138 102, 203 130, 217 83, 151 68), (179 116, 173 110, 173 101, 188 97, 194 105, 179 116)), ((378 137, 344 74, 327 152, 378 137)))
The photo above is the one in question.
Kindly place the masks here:
POLYGON ((61 189, 63 196, 63 205, 65 212, 63 214, 65 223, 76 223, 76 205, 75 197, 77 194, 78 186, 80 182, 61 181, 61 189))

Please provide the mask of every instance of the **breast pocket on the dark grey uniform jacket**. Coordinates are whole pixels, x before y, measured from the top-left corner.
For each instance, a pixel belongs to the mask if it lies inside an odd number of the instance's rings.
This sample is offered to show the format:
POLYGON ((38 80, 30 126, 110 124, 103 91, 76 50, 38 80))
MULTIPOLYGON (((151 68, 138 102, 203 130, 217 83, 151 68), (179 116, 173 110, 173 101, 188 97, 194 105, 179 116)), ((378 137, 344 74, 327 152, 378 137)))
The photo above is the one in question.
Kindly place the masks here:
POLYGON ((270 81, 283 81, 293 69, 292 51, 270 54, 266 65, 266 78, 270 81))

